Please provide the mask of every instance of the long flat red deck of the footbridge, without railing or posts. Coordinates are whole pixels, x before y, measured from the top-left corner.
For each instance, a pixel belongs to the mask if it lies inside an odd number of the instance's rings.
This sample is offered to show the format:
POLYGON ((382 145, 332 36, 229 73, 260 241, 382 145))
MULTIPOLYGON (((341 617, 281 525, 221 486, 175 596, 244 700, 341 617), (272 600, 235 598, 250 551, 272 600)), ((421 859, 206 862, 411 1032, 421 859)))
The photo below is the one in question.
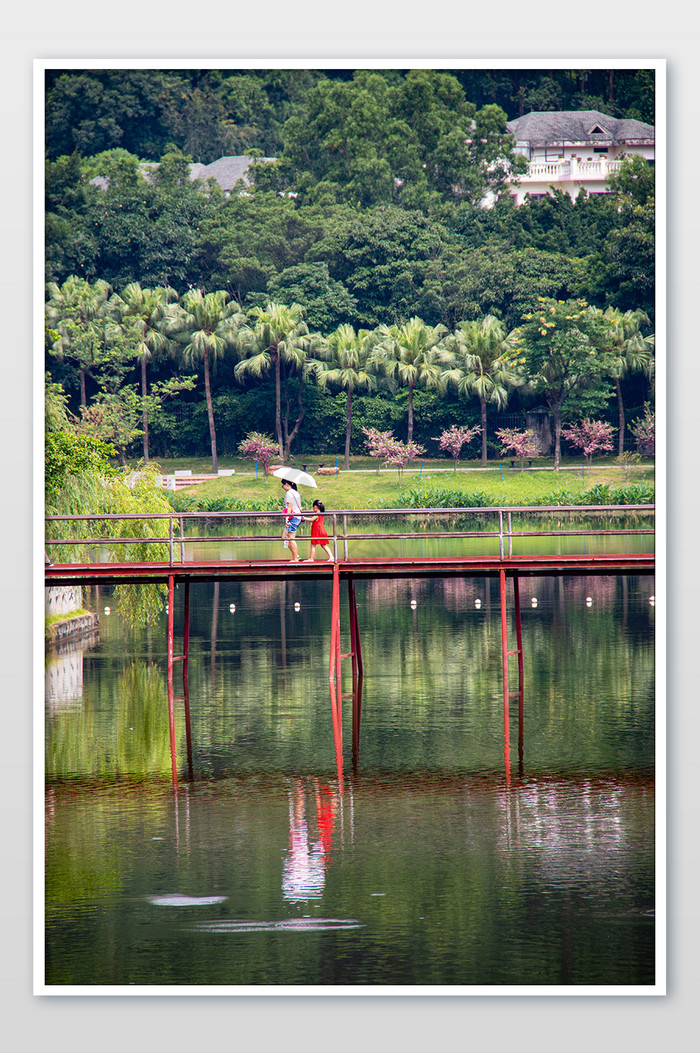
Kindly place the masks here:
MULTIPOLYGON (((580 574, 655 573, 653 553, 615 555, 546 555, 484 558, 377 558, 338 560, 340 577, 348 578, 426 578, 497 577, 502 570, 508 577, 542 577, 580 574)), ((46 585, 125 584, 136 582, 225 581, 225 580, 303 580, 333 577, 333 563, 294 563, 283 560, 187 560, 186 562, 147 563, 56 563, 45 568, 46 585)))

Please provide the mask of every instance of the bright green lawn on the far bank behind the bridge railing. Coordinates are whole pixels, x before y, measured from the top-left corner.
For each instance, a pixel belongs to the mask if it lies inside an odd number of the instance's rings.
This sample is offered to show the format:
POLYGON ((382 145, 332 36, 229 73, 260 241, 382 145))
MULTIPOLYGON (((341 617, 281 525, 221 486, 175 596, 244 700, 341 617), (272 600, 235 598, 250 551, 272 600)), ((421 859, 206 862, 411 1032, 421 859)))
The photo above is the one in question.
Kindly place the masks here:
MULTIPOLYGON (((335 458, 305 457, 292 461, 295 466, 306 464, 307 471, 315 474, 319 464, 335 466, 335 458)), ((191 458, 186 461, 160 461, 163 474, 171 474, 176 469, 192 469, 194 474, 208 474, 212 471, 211 461, 191 458)), ((574 497, 583 490, 598 483, 612 486, 624 486, 626 483, 654 483, 654 465, 642 464, 628 472, 628 478, 623 469, 617 464, 601 460, 594 462, 592 468, 582 469, 581 461, 565 462, 559 472, 554 472, 552 462, 538 461, 537 466, 521 472, 519 468, 512 469, 509 459, 489 463, 485 469, 478 461, 460 462, 457 472, 453 472, 445 460, 424 461, 403 472, 399 481, 396 470, 382 469, 377 472, 376 463, 371 458, 357 457, 351 459, 351 470, 342 469, 338 475, 316 475, 318 490, 300 488, 304 508, 311 508, 315 497, 319 497, 328 510, 373 508, 379 502, 391 505, 393 499, 407 490, 423 490, 427 493, 434 490, 459 490, 461 493, 480 493, 503 504, 527 504, 546 497, 549 493, 569 491, 574 497)), ((279 495, 282 500, 281 483, 274 477, 265 478, 262 472, 256 477, 255 463, 221 458, 220 468, 234 468, 236 475, 224 476, 211 482, 201 483, 192 489, 179 491, 181 494, 197 496, 197 498, 213 499, 231 497, 240 501, 267 501, 279 495)))

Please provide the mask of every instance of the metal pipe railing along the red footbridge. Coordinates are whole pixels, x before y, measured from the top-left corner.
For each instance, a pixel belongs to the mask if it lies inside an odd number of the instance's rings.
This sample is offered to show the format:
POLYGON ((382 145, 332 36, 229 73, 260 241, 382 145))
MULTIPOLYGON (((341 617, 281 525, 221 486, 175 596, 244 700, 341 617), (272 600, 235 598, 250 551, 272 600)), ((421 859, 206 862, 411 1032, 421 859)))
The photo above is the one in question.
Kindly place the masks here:
MULTIPOLYGON (((583 505, 503 505, 487 508, 449 508, 449 509, 340 509, 325 513, 325 524, 328 532, 329 542, 333 547, 334 556, 339 558, 339 547, 342 549, 342 558, 349 557, 348 544, 358 541, 411 541, 427 540, 434 538, 492 538, 494 543, 498 543, 499 557, 505 559, 513 555, 513 542, 516 539, 542 538, 542 537, 623 537, 654 535, 653 524, 655 517, 654 504, 583 504, 583 505), (526 517, 541 518, 549 525, 533 529, 532 523, 526 529, 516 529, 514 518, 526 517), (652 519, 652 525, 642 526, 615 526, 611 523, 623 517, 626 520, 635 517, 643 517, 645 520, 652 519), (419 519, 420 529, 412 529, 411 520, 419 519), (601 526, 603 519, 605 525, 601 526), (586 519, 597 520, 593 525, 583 525, 586 519), (397 520, 406 523, 405 530, 396 529, 368 529, 379 521, 392 520, 391 525, 395 528, 397 520), (373 522, 374 521, 374 522, 373 522), (484 529, 484 522, 493 522, 492 529, 484 529), (556 525, 552 525, 552 522, 556 525), (474 529, 477 523, 480 529, 474 529), (364 529, 363 529, 364 528, 364 529), (472 528, 472 529, 469 529, 472 528)), ((280 512, 151 512, 151 513, 111 513, 104 515, 63 515, 46 516, 47 536, 46 545, 51 550, 56 561, 58 554, 64 548, 82 547, 91 552, 93 558, 91 562, 111 562, 115 550, 120 547, 146 547, 138 553, 139 562, 167 562, 174 565, 178 562, 187 561, 186 547, 193 544, 222 544, 242 543, 251 541, 279 541, 283 525, 283 514, 280 512), (236 523, 252 523, 253 533, 238 533, 222 535, 217 534, 192 534, 188 526, 194 521, 204 522, 205 525, 212 522, 225 523, 226 521, 236 523), (260 521, 271 521, 277 524, 278 530, 274 534, 263 534, 259 532, 260 521), (132 531, 139 522, 149 523, 151 529, 157 529, 157 524, 163 524, 163 531, 159 534, 148 534, 147 528, 140 534, 132 531), (72 529, 71 537, 52 537, 55 533, 49 523, 79 523, 85 522, 86 533, 76 536, 75 528, 72 529), (119 522, 124 531, 128 533, 109 532, 109 524, 119 522), (93 524, 93 529, 91 528, 93 524), (98 528, 95 530, 94 528, 98 528), (91 533, 92 529, 92 533, 91 533), (153 554, 154 545, 167 547, 167 557, 165 551, 157 553, 159 558, 153 554), (151 551, 148 551, 151 550, 151 551), (97 557, 97 558, 95 558, 97 557), (106 557, 106 558, 103 558, 106 557)), ((307 540, 307 535, 303 540, 307 540)), ((652 547, 649 547, 652 551, 652 547)), ((134 560, 134 552, 126 555, 125 561, 134 560)), ((71 560, 73 561, 73 560, 71 560)))

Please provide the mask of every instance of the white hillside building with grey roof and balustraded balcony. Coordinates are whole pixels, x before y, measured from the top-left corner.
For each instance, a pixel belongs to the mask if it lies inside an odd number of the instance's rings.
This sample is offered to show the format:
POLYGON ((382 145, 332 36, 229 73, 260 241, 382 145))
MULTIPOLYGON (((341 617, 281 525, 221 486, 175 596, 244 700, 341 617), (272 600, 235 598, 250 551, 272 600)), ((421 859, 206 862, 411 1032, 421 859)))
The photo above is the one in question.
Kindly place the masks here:
POLYGON ((622 158, 639 154, 654 164, 654 125, 608 117, 597 110, 532 113, 508 121, 516 152, 527 172, 511 183, 518 204, 525 196, 543 197, 553 190, 576 198, 579 191, 608 193, 609 176, 622 158))

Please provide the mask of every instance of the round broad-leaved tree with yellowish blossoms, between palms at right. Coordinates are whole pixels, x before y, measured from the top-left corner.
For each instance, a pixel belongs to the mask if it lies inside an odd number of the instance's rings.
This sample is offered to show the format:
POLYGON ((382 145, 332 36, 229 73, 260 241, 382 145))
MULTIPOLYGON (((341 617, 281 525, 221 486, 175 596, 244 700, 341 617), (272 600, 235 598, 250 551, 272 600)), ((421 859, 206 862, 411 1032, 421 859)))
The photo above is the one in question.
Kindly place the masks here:
POLYGON ((609 376, 604 326, 585 300, 539 297, 508 336, 509 364, 526 377, 526 389, 544 397, 554 420, 554 466, 561 465, 562 409, 573 393, 609 376))

